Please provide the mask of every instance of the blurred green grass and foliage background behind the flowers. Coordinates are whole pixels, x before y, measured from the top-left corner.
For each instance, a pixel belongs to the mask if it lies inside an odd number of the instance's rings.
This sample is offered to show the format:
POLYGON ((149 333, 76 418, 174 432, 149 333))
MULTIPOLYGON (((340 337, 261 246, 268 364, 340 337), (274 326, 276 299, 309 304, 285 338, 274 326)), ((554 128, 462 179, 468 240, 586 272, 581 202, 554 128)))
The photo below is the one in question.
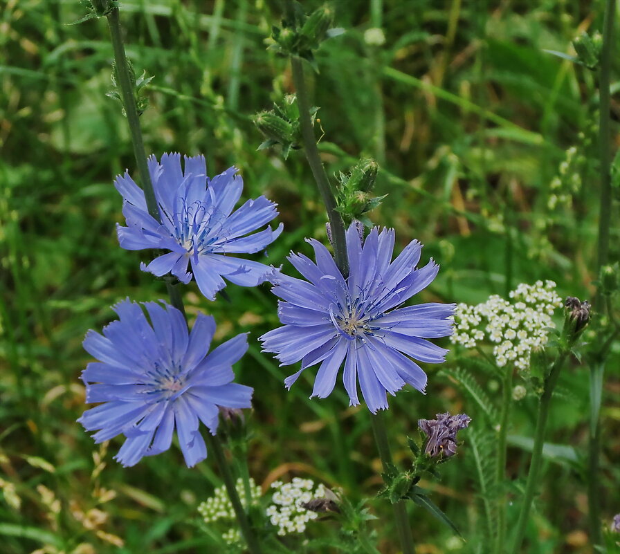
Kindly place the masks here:
MULTIPOLYGON (((397 248, 417 238, 426 245, 423 261, 433 256, 442 265, 420 301, 475 304, 536 279, 554 279, 562 295, 592 295, 596 76, 544 50, 575 55, 578 33, 601 28, 599 8, 569 0, 337 3, 335 24, 345 33, 316 52, 319 73, 307 72, 325 133, 319 146, 330 176, 360 156, 379 163, 374 194, 388 196, 370 218, 396 229, 397 248), (569 202, 549 207, 551 183, 565 181, 560 164, 573 146, 585 161, 563 191, 569 202)), ((106 452, 75 423, 84 409, 85 331, 109 322, 119 299, 165 295, 161 281, 139 270, 147 253, 118 248, 121 203, 112 182, 135 163, 118 102, 106 96, 106 21, 68 25, 83 15, 80 3, 66 0, 5 0, 0 15, 1 550, 203 552, 212 542, 199 530, 196 508, 219 485, 210 460, 188 470, 173 449, 123 469, 111 460, 119 441, 106 452)), ((286 59, 266 50, 280 24, 277 3, 125 0, 121 20, 136 75, 154 77, 141 118, 147 150, 202 152, 211 175, 237 165, 244 198, 277 201, 286 231, 268 263, 286 264, 291 249, 309 253, 303 237, 325 241, 325 214, 302 151, 291 150, 286 162, 275 150, 257 151, 262 136, 251 115, 292 92, 286 59)), ((614 82, 612 91, 618 88, 614 82)), ((613 101, 612 115, 619 115, 613 101)), ((611 244, 617 260, 617 227, 611 244)), ((277 325, 267 286, 226 291, 230 302, 210 303, 194 284, 186 293, 190 314, 206 311, 219 322, 217 341, 239 331, 255 339, 277 325)), ((619 361, 616 347, 601 412, 608 519, 620 511, 619 361)), ((421 481, 468 543, 415 508, 419 552, 481 552, 480 537, 464 530, 480 525, 473 482, 488 448, 476 431, 484 412, 461 393, 454 371, 425 369, 426 396, 406 390, 390 402, 395 460, 406 461, 419 418, 449 410, 473 421, 441 485, 421 481)), ((342 486, 354 503, 375 495, 380 463, 365 408, 347 407, 341 387, 328 400, 309 400, 310 371, 286 392, 289 372, 255 341, 237 368, 239 380, 255 387, 250 474, 257 483, 274 472, 309 475, 342 486)), ((480 387, 493 396, 498 382, 480 373, 480 387)), ((532 518, 531 554, 589 552, 587 371, 569 368, 558 388, 541 491, 553 509, 532 518), (574 448, 568 457, 565 447, 574 448)), ((513 414, 511 477, 527 468, 523 438, 532 436, 535 411, 536 400, 526 397, 513 414)), ((521 479, 513 489, 519 494, 521 479)), ((371 504, 390 521, 389 506, 371 504)), ((509 528, 515 517, 509 507, 509 528)), ((313 525, 320 534, 331 524, 313 525)), ((396 552, 389 525, 376 528, 384 554, 396 552)))

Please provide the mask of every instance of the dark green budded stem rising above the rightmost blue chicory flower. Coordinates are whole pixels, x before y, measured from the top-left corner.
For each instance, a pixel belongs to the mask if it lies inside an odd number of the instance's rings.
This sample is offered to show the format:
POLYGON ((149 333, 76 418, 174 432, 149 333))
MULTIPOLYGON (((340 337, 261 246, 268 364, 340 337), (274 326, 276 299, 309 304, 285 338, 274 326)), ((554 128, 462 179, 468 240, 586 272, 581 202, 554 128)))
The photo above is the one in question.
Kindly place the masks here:
POLYGON ((321 162, 316 139, 314 138, 314 130, 310 119, 310 102, 306 90, 302 60, 298 57, 291 57, 291 68, 293 69, 293 83, 295 84, 297 101, 299 103, 299 120, 304 151, 306 152, 306 158, 321 198, 327 209, 331 237, 334 243, 336 265, 346 279, 349 275, 349 260, 347 259, 347 243, 345 242, 345 223, 336 211, 336 198, 334 198, 334 193, 331 191, 331 185, 329 185, 329 179, 325 173, 325 167, 323 167, 321 162))

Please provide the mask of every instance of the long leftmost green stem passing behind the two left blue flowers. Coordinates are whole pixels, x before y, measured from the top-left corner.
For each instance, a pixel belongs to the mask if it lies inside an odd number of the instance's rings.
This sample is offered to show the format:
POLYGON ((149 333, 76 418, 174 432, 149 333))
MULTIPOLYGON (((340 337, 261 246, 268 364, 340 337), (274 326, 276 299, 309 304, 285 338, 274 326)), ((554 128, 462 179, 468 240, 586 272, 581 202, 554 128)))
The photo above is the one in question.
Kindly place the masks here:
MULTIPOLYGON (((136 99, 134 96, 134 86, 131 84, 129 64, 127 63, 127 56, 125 55, 125 46, 122 43, 122 28, 120 27, 118 8, 113 8, 107 15, 107 19, 110 28, 112 47, 114 50, 114 61, 116 62, 116 77, 120 87, 122 104, 125 108, 125 113, 127 114, 127 123, 129 124, 129 132, 131 133, 131 144, 134 147, 134 156, 136 157, 136 164, 138 165, 138 173, 140 174, 140 181, 142 182, 147 208, 149 210, 149 214, 151 214, 156 221, 161 223, 155 191, 147 165, 147 155, 144 148, 142 131, 140 129, 140 120, 138 116, 138 109, 136 107, 136 99)), ((179 309, 185 317, 183 298, 181 297, 179 290, 172 284, 170 279, 166 279, 166 288, 168 295, 170 296, 170 302, 175 308, 179 309)), ((186 317, 185 320, 187 321, 186 317)), ((230 474, 230 469, 228 468, 228 463, 226 462, 219 438, 217 436, 208 435, 208 443, 210 445, 210 450, 215 455, 215 460, 219 466, 222 479, 224 479, 224 484, 228 490, 230 502, 233 504, 235 515, 237 516, 237 521, 239 522, 239 527, 241 528, 241 534, 248 545, 250 553, 261 554, 257 539, 250 528, 248 517, 243 506, 241 505, 241 501, 239 500, 239 495, 237 494, 237 489, 235 488, 235 482, 230 474)))

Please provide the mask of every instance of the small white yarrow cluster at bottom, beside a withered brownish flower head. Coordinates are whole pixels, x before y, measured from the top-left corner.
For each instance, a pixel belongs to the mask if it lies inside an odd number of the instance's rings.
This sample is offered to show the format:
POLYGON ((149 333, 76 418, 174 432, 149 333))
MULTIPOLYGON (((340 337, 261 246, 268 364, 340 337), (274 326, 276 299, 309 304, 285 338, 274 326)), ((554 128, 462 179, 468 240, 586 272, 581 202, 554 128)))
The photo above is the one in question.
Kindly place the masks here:
POLYGON ((277 534, 280 536, 303 533, 307 522, 316 519, 318 513, 307 510, 302 504, 326 494, 322 484, 313 492, 314 481, 300 477, 294 477, 291 483, 274 481, 271 488, 275 489, 271 497, 273 504, 268 506, 266 515, 271 519, 271 524, 278 528, 277 534))

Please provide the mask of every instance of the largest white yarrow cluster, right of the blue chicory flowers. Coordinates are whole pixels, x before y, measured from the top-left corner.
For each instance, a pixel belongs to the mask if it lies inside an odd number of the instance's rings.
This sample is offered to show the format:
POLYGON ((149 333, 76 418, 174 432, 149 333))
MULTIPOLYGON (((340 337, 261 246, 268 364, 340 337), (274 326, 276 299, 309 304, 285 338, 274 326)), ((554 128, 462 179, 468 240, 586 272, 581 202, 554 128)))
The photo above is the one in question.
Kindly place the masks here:
POLYGON ((545 347, 551 316, 562 306, 554 281, 520 284, 509 294, 511 301, 492 295, 483 304, 458 304, 455 312, 454 344, 475 348, 484 339, 495 343, 493 356, 498 367, 513 362, 517 369, 529 369, 532 351, 545 347))

